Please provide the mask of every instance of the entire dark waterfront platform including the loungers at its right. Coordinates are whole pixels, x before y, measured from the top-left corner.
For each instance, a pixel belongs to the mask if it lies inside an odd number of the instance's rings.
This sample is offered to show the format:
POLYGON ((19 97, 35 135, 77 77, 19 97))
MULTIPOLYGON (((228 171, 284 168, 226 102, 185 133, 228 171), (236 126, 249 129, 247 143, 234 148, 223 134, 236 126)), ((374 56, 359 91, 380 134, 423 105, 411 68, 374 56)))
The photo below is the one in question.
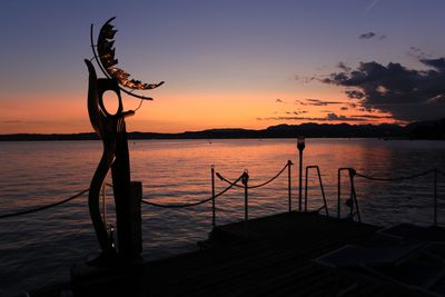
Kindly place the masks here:
MULTIPOLYGON (((218 226, 199 246, 127 269, 80 265, 70 284, 31 296, 441 296, 445 288, 444 261, 437 265, 441 255, 429 244, 318 214, 291 211, 218 226), (426 247, 435 261, 419 263, 426 247), (422 269, 414 266, 407 275, 415 264, 422 269), (426 285, 406 284, 390 269, 405 271, 406 281, 434 275, 426 285)), ((434 248, 443 251, 441 242, 434 248)))

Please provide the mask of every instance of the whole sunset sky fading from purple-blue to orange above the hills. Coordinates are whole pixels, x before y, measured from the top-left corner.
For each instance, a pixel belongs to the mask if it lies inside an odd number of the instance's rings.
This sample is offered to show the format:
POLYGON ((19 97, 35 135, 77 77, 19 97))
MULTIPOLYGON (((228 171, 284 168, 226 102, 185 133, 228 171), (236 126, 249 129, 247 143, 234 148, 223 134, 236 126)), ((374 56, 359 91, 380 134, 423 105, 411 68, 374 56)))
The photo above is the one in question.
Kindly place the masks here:
POLYGON ((439 0, 7 1, 0 133, 92 131, 89 27, 115 16, 119 67, 166 81, 130 131, 438 119, 444 14, 439 0))

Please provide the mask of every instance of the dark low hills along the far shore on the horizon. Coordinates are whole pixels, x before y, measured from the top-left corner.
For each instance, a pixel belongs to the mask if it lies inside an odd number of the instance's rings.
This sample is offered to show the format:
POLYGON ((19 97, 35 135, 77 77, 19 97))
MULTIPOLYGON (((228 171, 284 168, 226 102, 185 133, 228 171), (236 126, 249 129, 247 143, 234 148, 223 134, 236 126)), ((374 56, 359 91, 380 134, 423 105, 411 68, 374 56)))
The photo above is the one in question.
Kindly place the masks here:
MULTIPOLYGON (((281 123, 261 130, 228 128, 202 131, 186 131, 181 133, 129 132, 129 139, 218 139, 218 138, 308 138, 346 137, 346 138, 406 138, 406 139, 445 139, 445 119, 419 121, 402 127, 392 123, 382 125, 348 125, 348 123, 281 123)), ((98 136, 90 133, 16 133, 0 135, 0 141, 41 141, 41 140, 97 140, 98 136)))

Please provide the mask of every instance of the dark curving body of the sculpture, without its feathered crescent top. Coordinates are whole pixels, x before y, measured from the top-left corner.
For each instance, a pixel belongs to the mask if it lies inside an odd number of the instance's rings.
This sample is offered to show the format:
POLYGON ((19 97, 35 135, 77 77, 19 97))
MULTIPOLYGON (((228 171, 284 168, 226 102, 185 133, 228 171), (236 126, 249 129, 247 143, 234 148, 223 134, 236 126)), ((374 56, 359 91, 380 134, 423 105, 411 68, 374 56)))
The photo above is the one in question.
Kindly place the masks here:
POLYGON ((101 256, 95 264, 102 265, 117 256, 99 210, 100 189, 110 169, 116 204, 119 258, 131 259, 138 257, 141 251, 140 248, 135 250, 135 247, 129 244, 131 238, 128 237, 131 234, 126 230, 131 225, 129 209, 131 208, 129 206, 131 182, 125 118, 135 112, 123 111, 118 82, 113 79, 98 79, 92 63, 89 60, 85 62, 89 71, 88 113, 92 127, 103 142, 102 157, 92 177, 88 196, 91 220, 102 249, 101 256), (119 106, 115 115, 109 113, 105 108, 103 93, 106 91, 113 91, 118 97, 119 106))

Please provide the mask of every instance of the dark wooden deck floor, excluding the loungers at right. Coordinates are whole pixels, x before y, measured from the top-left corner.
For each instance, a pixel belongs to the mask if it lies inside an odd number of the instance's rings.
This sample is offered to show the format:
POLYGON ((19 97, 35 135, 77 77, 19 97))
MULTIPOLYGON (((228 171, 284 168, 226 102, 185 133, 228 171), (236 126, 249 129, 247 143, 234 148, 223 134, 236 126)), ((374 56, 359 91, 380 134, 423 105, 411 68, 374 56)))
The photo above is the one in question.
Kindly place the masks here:
POLYGON ((127 270, 79 273, 70 286, 75 296, 432 296, 314 260, 345 245, 389 245, 379 229, 280 214, 217 227, 199 251, 127 270))

